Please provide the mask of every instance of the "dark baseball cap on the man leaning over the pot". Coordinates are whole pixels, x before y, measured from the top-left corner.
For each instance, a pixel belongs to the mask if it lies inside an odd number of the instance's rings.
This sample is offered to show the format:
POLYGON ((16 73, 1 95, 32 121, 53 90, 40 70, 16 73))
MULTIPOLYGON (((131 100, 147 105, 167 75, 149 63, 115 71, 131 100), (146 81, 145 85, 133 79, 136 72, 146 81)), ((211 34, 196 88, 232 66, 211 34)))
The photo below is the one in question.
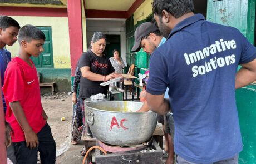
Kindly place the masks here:
POLYGON ((135 34, 134 34, 135 44, 134 44, 134 47, 132 47, 131 51, 133 51, 133 52, 140 51, 141 39, 143 37, 147 36, 147 34, 157 31, 157 30, 158 30, 158 28, 155 26, 154 23, 146 22, 146 23, 140 24, 140 26, 137 27, 137 29, 135 31, 135 34))

